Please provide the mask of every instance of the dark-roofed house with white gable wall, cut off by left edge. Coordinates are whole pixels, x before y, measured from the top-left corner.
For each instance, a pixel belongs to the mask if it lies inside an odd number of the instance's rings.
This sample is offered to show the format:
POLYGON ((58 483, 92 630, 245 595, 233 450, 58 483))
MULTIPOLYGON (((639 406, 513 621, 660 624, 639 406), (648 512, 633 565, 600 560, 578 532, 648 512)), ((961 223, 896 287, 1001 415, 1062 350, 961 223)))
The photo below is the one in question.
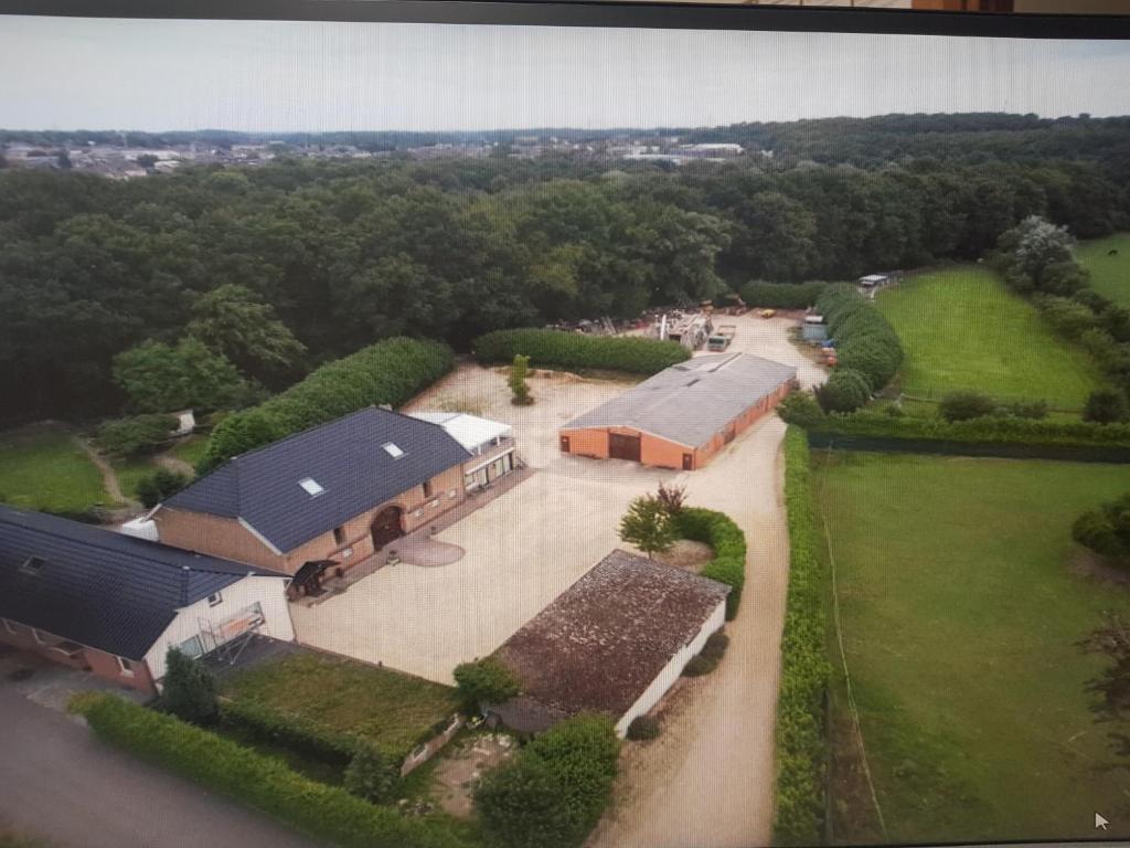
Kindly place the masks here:
POLYGON ((292 641, 289 578, 0 505, 0 642, 150 694, 169 647, 292 641))

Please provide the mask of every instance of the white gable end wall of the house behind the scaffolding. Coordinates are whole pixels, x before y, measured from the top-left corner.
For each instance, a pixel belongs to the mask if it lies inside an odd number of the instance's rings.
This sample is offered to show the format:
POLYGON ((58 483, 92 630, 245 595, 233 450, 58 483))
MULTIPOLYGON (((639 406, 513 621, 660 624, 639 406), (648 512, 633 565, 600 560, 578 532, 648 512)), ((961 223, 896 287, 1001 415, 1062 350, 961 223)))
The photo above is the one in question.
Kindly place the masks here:
MULTIPOLYGON (((169 647, 179 648, 197 637, 206 641, 207 633, 202 635, 202 631, 219 631, 225 624, 233 624, 254 604, 259 604, 263 613, 259 633, 286 642, 294 641, 286 582, 278 577, 245 577, 221 589, 218 604, 212 605, 208 598, 201 598, 181 609, 145 655, 153 678, 159 681, 165 676, 165 655, 169 647)), ((211 647, 208 644, 205 650, 211 647)))

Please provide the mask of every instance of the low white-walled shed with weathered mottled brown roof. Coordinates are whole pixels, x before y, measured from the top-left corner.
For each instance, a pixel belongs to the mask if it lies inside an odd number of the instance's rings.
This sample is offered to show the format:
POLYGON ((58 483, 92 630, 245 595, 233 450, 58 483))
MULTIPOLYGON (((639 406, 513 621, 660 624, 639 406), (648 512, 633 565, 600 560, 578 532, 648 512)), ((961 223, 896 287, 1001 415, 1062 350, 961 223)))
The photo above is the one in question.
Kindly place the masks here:
POLYGON ((623 736, 724 625, 729 592, 685 569, 614 551, 498 648, 521 692, 486 711, 524 733, 605 712, 623 736))

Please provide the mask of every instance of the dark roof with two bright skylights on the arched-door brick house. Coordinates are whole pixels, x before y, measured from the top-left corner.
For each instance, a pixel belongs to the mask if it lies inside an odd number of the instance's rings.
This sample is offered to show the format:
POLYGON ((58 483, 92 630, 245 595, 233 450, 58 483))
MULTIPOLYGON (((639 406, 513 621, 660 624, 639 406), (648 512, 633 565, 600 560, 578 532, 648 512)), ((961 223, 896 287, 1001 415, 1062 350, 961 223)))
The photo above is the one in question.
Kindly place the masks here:
POLYGON ((235 457, 165 505, 243 519, 285 553, 469 457, 438 424, 372 406, 235 457))

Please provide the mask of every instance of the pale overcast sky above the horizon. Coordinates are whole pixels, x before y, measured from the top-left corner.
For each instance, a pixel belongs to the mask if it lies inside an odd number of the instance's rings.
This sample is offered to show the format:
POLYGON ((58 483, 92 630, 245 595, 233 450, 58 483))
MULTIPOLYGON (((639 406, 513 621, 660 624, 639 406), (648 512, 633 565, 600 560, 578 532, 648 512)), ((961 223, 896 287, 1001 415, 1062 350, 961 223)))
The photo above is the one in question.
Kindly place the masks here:
POLYGON ((1130 43, 0 16, 0 127, 443 130, 1130 114, 1130 43))

